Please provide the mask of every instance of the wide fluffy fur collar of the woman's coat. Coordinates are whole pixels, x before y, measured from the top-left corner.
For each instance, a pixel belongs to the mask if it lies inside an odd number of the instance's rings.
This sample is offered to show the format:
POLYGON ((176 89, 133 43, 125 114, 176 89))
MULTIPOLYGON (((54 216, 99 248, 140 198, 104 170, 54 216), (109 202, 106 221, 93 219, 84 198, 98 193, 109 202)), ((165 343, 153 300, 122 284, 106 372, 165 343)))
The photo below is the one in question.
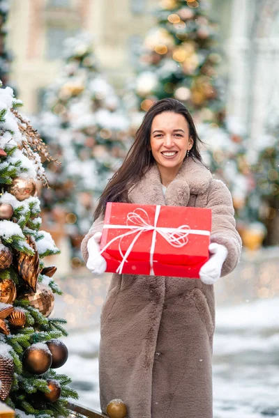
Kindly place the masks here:
POLYGON ((154 164, 128 192, 131 203, 141 205, 187 206, 190 194, 204 194, 212 180, 211 172, 201 163, 188 158, 163 195, 160 173, 154 164))

